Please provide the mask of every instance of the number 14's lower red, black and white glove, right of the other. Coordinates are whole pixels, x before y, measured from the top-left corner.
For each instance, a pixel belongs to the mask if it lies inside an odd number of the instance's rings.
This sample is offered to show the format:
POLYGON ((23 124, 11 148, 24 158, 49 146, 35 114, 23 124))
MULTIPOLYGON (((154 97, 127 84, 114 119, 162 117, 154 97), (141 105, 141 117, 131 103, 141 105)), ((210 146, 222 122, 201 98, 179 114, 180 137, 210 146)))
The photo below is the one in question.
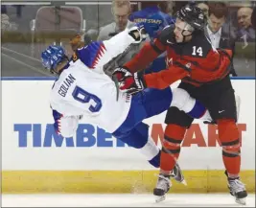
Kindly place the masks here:
POLYGON ((143 79, 143 74, 140 72, 136 72, 120 82, 120 90, 126 91, 128 94, 137 93, 146 87, 147 85, 143 79))

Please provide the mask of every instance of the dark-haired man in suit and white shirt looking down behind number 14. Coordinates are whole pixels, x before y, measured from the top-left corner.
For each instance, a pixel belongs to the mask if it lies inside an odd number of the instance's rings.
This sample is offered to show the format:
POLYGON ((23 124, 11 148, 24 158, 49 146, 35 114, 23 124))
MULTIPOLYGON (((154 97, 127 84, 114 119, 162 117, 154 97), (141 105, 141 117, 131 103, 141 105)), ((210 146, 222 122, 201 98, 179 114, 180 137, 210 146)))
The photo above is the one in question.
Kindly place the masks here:
MULTIPOLYGON (((232 33, 230 33, 229 30, 226 30, 228 29, 227 27, 224 27, 227 15, 228 8, 225 3, 216 2, 210 4, 208 24, 205 28, 205 34, 210 37, 212 45, 215 48, 231 49, 234 57, 236 37, 234 35, 232 36, 232 33)), ((237 77, 233 62, 231 63, 230 74, 237 77)))

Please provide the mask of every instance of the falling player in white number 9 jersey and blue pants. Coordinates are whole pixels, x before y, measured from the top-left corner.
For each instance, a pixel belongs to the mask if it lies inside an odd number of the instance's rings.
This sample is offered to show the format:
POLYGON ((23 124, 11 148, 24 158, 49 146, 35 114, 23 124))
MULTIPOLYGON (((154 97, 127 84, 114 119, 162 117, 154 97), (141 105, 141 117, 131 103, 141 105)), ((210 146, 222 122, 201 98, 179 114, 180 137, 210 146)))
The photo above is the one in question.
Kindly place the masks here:
MULTIPOLYGON (((114 81, 105 75, 104 65, 123 53, 130 44, 143 41, 142 27, 133 27, 109 40, 91 42, 77 50, 71 59, 60 46, 50 46, 41 55, 43 65, 58 75, 50 95, 55 128, 63 137, 76 133, 81 117, 112 133, 114 137, 141 150, 150 164, 159 167, 160 150, 149 126, 142 121, 160 114, 171 105, 193 118, 210 119, 205 107, 182 89, 147 89, 134 95, 120 92, 118 101, 114 81)), ((174 176, 183 176, 175 166, 174 176), (176 170, 175 170, 176 169, 176 170)))

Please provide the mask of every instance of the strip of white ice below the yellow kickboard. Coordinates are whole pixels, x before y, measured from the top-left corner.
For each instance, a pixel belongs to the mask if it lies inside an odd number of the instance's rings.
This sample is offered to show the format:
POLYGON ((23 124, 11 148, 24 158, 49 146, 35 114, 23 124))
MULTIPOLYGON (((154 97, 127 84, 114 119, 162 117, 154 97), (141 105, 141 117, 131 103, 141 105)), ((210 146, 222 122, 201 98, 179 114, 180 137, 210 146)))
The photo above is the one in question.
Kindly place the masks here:
MULTIPOLYGON (((171 194, 155 203, 152 195, 3 195, 3 207, 241 207, 229 194, 171 194)), ((255 195, 246 198, 255 207, 255 195)), ((244 206, 243 206, 244 207, 244 206)))

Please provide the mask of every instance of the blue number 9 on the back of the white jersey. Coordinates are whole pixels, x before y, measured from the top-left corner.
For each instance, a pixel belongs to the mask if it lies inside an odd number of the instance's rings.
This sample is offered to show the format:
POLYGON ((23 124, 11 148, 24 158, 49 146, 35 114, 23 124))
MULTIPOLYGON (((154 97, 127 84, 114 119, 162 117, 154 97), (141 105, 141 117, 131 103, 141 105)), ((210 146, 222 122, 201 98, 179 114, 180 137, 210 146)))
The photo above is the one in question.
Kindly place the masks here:
POLYGON ((99 99, 96 95, 85 91, 79 86, 75 87, 72 96, 76 101, 81 102, 82 104, 87 104, 92 101, 93 104, 89 106, 89 110, 92 113, 99 112, 103 106, 101 99, 99 99))

